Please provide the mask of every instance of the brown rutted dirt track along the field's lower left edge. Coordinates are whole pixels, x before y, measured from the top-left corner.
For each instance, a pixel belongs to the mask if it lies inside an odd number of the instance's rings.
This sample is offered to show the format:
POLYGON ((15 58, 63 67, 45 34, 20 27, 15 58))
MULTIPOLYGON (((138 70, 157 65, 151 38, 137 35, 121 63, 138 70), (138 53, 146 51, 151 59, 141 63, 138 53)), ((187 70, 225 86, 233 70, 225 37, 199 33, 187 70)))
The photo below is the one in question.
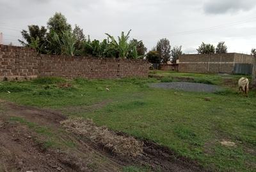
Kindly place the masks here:
POLYGON ((86 136, 59 132, 63 129, 60 122, 65 119, 58 112, 0 101, 0 172, 122 171, 124 166, 150 166, 152 171, 204 171, 196 162, 177 157, 168 148, 150 141, 144 141, 143 152, 137 157, 114 155, 86 136), (12 117, 26 122, 15 122, 10 120, 12 117), (32 124, 51 129, 54 138, 71 140, 76 146, 45 148, 45 135, 36 132, 32 124))

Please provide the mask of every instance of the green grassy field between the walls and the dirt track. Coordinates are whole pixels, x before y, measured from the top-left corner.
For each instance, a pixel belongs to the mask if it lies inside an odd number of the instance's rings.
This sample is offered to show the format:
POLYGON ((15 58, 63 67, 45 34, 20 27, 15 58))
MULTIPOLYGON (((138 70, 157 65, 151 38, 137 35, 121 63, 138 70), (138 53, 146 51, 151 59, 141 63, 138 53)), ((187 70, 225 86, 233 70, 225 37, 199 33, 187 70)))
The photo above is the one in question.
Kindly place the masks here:
POLYGON ((164 79, 39 78, 1 82, 0 98, 53 108, 68 117, 92 118, 98 125, 155 141, 216 171, 255 171, 256 92, 244 97, 237 94, 237 85, 225 82, 228 79, 236 83, 241 76, 160 71, 151 74, 164 79), (221 85, 225 90, 198 93, 148 87, 152 82, 175 81, 175 77, 221 85), (205 97, 211 97, 211 101, 205 101, 205 97), (236 146, 221 145, 224 140, 236 146))

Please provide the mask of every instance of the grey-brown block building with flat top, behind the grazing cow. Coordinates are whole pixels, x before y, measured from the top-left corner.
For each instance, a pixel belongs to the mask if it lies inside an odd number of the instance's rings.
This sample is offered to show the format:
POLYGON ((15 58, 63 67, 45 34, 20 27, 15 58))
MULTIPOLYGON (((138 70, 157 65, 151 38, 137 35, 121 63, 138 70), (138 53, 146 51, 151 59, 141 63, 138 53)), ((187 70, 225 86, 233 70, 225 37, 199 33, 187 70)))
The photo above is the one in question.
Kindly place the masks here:
POLYGON ((251 74, 252 65, 252 55, 246 54, 188 54, 179 57, 180 72, 251 74), (250 70, 243 70, 243 66, 250 66, 250 70))

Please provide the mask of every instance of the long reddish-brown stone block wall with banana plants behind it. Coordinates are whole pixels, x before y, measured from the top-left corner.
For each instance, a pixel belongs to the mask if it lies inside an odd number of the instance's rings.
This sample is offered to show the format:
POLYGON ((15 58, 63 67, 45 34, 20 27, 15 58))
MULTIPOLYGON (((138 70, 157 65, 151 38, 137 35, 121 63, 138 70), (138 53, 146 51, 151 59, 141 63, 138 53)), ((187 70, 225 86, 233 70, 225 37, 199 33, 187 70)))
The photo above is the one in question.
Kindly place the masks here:
POLYGON ((30 79, 38 76, 65 78, 147 77, 145 60, 99 59, 37 54, 26 47, 0 45, 0 80, 30 79))

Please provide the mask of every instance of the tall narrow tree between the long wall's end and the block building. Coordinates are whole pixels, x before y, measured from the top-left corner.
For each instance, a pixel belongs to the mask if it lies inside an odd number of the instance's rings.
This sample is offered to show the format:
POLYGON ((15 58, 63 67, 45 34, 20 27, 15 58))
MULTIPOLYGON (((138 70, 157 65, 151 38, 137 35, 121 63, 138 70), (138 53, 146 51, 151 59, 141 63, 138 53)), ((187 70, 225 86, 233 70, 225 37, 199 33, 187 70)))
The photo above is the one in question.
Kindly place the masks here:
POLYGON ((170 61, 171 58, 171 45, 170 45, 170 41, 166 38, 160 39, 157 42, 156 45, 156 50, 159 53, 160 57, 161 57, 161 61, 164 64, 167 64, 168 61, 170 61))

